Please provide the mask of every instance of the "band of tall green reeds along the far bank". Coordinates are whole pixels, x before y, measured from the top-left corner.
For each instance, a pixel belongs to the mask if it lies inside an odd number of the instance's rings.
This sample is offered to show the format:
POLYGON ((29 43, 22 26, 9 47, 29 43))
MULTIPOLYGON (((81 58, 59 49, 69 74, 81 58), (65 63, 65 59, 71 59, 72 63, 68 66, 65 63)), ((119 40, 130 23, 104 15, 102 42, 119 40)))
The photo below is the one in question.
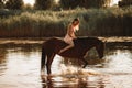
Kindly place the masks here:
POLYGON ((23 11, 0 19, 1 37, 64 36, 68 23, 80 19, 77 35, 132 35, 132 8, 76 9, 68 11, 23 11))

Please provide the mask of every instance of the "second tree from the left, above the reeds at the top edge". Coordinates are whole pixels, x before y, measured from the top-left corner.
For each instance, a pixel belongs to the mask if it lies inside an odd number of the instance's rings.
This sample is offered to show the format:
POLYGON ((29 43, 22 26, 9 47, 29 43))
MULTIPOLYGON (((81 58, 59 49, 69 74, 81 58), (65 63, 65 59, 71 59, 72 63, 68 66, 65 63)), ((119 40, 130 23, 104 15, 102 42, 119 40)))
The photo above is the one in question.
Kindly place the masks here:
POLYGON ((54 0, 35 0, 35 9, 47 10, 54 4, 54 0))

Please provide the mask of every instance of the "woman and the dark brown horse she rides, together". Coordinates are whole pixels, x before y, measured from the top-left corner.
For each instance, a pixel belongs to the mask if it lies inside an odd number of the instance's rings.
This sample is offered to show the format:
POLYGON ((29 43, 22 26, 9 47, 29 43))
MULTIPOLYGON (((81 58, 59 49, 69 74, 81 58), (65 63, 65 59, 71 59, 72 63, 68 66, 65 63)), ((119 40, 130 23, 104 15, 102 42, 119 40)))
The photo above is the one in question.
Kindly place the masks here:
POLYGON ((50 75, 51 65, 56 54, 63 57, 79 58, 85 63, 84 67, 88 64, 84 56, 90 48, 96 47, 99 57, 103 57, 103 42, 97 37, 77 38, 75 32, 78 31, 78 28, 79 19, 74 19, 67 29, 67 34, 64 37, 64 41, 59 38, 50 38, 43 44, 41 69, 43 69, 46 64, 47 74, 50 75))

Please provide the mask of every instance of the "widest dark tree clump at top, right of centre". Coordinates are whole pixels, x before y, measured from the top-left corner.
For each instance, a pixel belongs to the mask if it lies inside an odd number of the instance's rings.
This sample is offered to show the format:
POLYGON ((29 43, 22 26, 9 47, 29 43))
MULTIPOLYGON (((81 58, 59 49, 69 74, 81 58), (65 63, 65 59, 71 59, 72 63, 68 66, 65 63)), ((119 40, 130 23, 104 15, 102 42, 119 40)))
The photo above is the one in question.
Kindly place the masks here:
POLYGON ((64 9, 82 8, 105 8, 110 4, 112 0, 61 0, 59 4, 64 9))

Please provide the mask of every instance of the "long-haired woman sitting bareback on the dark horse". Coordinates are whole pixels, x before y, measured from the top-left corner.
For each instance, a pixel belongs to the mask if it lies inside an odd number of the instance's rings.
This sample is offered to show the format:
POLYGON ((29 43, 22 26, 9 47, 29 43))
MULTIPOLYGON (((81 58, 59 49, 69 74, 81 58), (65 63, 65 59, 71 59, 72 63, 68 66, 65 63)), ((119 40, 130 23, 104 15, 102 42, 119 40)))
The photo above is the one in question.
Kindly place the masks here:
POLYGON ((74 21, 69 24, 67 29, 67 34, 64 37, 64 41, 69 44, 68 46, 64 47, 59 51, 59 54, 74 47, 73 40, 76 38, 75 32, 79 30, 79 19, 74 19, 74 21))

